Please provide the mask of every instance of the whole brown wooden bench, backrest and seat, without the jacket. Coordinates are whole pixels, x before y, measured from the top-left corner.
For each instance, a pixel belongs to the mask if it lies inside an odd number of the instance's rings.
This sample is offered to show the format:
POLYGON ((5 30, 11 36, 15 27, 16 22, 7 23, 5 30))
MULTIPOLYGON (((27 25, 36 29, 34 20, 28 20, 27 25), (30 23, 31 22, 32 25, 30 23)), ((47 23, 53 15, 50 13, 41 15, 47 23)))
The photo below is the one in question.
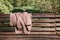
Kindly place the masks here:
POLYGON ((60 14, 32 14, 31 34, 16 34, 9 25, 10 14, 0 14, 0 40, 60 40, 60 14))

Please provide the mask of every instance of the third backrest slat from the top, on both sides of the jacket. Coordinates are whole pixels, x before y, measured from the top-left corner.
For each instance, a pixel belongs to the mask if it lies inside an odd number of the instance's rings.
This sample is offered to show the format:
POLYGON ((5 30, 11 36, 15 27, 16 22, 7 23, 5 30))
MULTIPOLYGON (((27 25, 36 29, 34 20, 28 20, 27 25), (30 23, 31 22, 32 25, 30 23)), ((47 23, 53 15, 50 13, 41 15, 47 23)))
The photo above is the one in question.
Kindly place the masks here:
MULTIPOLYGON (((10 26, 7 24, 0 24, 0 26, 10 26)), ((60 23, 33 23, 32 26, 60 26, 60 23)))

